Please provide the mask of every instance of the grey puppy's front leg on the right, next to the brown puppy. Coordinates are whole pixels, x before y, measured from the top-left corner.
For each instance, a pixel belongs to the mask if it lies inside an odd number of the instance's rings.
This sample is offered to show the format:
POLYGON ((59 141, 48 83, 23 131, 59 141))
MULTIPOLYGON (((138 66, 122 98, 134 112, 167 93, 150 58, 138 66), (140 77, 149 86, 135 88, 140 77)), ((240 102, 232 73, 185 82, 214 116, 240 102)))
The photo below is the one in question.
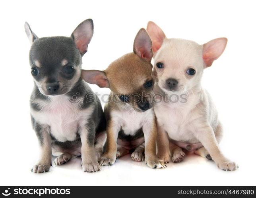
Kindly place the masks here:
POLYGON ((94 148, 95 127, 91 126, 81 127, 81 167, 85 172, 97 172, 100 170, 99 163, 97 162, 96 152, 94 148))

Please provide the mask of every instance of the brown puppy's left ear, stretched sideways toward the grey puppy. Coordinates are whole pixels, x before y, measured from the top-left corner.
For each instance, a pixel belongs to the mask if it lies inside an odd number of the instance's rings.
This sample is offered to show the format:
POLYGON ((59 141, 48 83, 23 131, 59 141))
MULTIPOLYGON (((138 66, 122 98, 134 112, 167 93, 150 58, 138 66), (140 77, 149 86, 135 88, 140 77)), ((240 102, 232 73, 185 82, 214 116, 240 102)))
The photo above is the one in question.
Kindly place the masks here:
POLYGON ((97 84, 97 86, 100 88, 109 87, 109 80, 107 79, 106 73, 104 71, 82 69, 81 77, 85 82, 90 84, 97 84))

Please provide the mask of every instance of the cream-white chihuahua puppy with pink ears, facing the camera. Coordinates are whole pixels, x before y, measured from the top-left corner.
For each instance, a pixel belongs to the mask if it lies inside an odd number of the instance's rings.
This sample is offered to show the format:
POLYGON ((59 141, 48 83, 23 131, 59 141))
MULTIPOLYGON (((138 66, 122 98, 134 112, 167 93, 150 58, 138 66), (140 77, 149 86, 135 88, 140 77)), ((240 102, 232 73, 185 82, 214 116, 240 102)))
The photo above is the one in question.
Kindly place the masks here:
POLYGON ((203 70, 223 53, 227 38, 217 38, 204 45, 167 39, 151 21, 147 32, 153 42, 154 91, 161 95, 154 106, 158 156, 165 162, 171 156, 173 162, 180 162, 185 156, 183 148, 214 160, 221 169, 237 169, 237 164, 227 159, 219 148, 221 123, 209 93, 201 86, 203 70))

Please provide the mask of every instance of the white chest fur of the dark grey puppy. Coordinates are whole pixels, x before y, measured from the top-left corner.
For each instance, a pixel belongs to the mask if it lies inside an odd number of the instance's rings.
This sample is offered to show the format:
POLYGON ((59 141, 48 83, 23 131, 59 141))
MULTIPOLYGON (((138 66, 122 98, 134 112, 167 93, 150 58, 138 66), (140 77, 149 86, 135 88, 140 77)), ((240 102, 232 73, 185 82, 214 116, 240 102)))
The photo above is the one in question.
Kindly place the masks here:
POLYGON ((87 124, 93 112, 93 105, 81 110, 65 95, 53 96, 48 101, 38 101, 40 111, 31 110, 32 116, 40 124, 50 126, 50 133, 58 141, 73 141, 78 128, 87 124))

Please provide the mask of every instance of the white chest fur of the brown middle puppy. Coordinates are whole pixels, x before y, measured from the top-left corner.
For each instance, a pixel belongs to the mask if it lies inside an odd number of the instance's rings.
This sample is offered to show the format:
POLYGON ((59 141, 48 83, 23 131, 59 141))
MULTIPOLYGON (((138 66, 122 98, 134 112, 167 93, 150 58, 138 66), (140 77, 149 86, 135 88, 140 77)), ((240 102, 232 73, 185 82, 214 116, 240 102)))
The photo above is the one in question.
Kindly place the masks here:
POLYGON ((126 135, 135 135, 138 129, 147 124, 151 126, 154 116, 153 109, 145 112, 136 112, 131 109, 111 112, 112 120, 124 130, 126 135))

